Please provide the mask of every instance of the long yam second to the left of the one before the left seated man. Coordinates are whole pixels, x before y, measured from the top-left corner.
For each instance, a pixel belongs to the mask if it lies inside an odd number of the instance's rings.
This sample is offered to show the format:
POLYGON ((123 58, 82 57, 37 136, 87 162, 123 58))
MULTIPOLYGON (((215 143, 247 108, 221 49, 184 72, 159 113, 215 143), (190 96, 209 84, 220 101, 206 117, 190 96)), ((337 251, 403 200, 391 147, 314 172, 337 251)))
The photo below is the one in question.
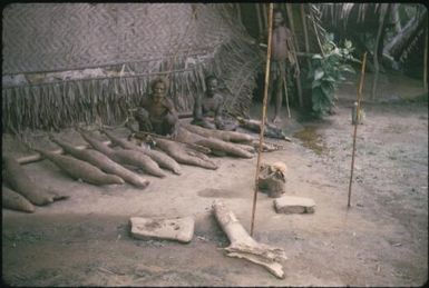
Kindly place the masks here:
POLYGON ((156 176, 159 178, 166 177, 164 171, 159 168, 159 166, 154 160, 150 159, 150 157, 133 150, 126 150, 126 149, 114 150, 107 145, 104 145, 101 141, 95 139, 90 133, 85 132, 82 130, 80 130, 79 132, 81 137, 85 139, 85 141, 90 143, 94 147, 94 149, 106 155, 115 162, 120 165, 129 165, 129 166, 138 167, 142 170, 144 170, 146 173, 156 176))

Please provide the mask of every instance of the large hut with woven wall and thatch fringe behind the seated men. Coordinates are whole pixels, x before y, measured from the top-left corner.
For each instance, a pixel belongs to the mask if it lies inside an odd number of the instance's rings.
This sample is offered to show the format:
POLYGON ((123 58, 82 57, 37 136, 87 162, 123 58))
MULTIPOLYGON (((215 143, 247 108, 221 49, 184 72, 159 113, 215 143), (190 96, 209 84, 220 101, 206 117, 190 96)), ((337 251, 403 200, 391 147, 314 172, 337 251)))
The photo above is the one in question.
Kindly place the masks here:
POLYGON ((246 115, 263 62, 228 3, 13 3, 3 10, 3 131, 117 125, 169 79, 189 112, 208 73, 246 115))

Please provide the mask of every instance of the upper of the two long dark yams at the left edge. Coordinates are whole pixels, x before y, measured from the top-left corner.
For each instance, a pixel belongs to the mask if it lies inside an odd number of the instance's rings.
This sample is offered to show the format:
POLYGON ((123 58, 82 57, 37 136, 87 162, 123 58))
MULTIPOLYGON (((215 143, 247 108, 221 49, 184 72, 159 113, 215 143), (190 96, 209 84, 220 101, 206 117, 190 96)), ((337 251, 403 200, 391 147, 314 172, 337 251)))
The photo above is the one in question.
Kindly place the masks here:
POLYGON ((55 200, 68 198, 68 196, 40 187, 28 176, 14 158, 3 156, 2 159, 4 169, 3 179, 9 183, 11 189, 22 195, 31 203, 43 206, 55 200))

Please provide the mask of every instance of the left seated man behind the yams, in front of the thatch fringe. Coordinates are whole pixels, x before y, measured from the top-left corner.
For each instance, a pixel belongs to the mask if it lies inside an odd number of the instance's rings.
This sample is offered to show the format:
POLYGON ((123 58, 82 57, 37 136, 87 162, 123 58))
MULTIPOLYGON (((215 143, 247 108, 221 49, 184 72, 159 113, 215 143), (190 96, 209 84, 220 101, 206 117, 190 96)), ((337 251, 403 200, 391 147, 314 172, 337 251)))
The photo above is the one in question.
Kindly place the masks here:
POLYGON ((135 113, 138 130, 163 136, 175 136, 178 126, 178 116, 173 102, 166 97, 167 82, 163 78, 155 79, 152 93, 143 98, 135 113))

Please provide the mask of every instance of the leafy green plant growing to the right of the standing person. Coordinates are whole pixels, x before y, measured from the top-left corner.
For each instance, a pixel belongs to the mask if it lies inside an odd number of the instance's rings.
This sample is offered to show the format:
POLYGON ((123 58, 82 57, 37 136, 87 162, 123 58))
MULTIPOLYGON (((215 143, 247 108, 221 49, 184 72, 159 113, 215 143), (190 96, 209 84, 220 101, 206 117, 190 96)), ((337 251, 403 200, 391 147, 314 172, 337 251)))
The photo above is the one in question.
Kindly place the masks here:
POLYGON ((344 72, 354 73, 347 61, 357 61, 351 54, 354 50, 351 41, 347 40, 344 48, 339 48, 333 42, 333 34, 326 36, 322 49, 324 56, 313 56, 312 69, 309 71, 312 109, 319 117, 326 115, 335 106, 335 89, 339 82, 345 80, 344 72))

